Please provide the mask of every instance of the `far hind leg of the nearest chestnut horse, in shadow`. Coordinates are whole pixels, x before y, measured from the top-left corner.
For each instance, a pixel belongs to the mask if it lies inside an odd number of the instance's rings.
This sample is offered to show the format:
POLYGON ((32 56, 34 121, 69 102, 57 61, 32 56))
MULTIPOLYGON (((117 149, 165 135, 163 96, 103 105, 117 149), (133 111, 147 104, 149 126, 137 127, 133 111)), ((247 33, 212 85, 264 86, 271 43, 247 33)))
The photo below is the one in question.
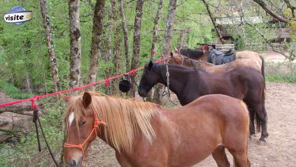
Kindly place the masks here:
POLYGON ((212 156, 215 159, 218 167, 230 166, 230 163, 229 163, 227 156, 225 154, 225 147, 224 146, 219 145, 212 153, 212 156))

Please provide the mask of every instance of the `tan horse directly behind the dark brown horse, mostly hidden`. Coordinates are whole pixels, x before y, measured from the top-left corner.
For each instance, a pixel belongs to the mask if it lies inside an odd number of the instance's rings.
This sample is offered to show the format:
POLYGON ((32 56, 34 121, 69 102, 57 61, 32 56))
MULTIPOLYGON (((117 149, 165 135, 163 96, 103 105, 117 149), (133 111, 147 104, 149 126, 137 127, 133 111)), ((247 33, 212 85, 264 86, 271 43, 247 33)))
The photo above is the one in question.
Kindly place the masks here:
POLYGON ((251 59, 238 59, 226 64, 214 65, 202 60, 190 59, 186 56, 177 55, 171 52, 171 57, 167 60, 169 64, 178 64, 188 67, 198 67, 209 73, 223 73, 233 70, 236 67, 251 67, 261 72, 261 66, 258 62, 251 59))

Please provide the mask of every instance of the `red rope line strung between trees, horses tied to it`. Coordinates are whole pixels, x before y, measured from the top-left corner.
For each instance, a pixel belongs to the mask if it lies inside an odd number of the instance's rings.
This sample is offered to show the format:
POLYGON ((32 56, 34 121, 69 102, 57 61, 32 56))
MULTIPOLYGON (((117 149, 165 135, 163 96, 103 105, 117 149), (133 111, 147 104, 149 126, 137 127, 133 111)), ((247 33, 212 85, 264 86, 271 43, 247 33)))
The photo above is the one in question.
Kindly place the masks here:
MULTIPOLYGON (((163 60, 166 60, 167 58, 168 57, 164 57, 162 59, 157 60, 156 62, 157 63, 161 63, 163 60)), ((105 86, 108 87, 109 80, 113 80, 113 79, 116 79, 116 78, 119 78, 119 77, 122 77, 122 76, 128 75, 128 74, 131 75, 131 76, 133 76, 135 72, 137 72, 138 70, 143 69, 143 68, 144 67, 139 67, 139 68, 133 69, 133 70, 127 72, 127 73, 119 74, 119 75, 116 75, 116 76, 113 76, 113 77, 107 77, 104 80, 99 80, 99 81, 93 82, 91 84, 84 85, 84 86, 77 87, 77 88, 72 88, 72 89, 63 90, 63 91, 60 91, 60 92, 55 92, 55 93, 51 93, 51 94, 41 95, 41 96, 34 95, 32 98, 22 99, 22 100, 17 100, 17 101, 12 101, 12 102, 8 102, 8 103, 2 103, 2 104, 0 104, 0 108, 5 107, 5 106, 9 106, 9 105, 13 105, 13 104, 23 103, 23 102, 26 102, 26 101, 31 101, 32 109, 34 109, 35 107, 38 107, 37 106, 37 103, 36 103, 36 100, 39 100, 40 98, 55 96, 55 95, 58 95, 60 93, 66 93, 66 92, 81 90, 81 89, 84 89, 84 88, 88 88, 88 87, 91 87, 91 86, 94 86, 94 85, 101 84, 103 82, 105 82, 105 86)))

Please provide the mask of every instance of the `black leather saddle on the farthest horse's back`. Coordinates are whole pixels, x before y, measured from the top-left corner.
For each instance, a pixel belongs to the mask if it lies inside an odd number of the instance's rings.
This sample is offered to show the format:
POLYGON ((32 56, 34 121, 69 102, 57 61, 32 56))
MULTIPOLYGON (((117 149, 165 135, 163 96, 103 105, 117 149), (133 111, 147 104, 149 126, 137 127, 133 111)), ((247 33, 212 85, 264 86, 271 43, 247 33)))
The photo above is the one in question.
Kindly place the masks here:
POLYGON ((231 62, 235 59, 235 53, 230 49, 226 53, 223 53, 218 50, 212 50, 208 56, 208 63, 215 65, 221 65, 228 62, 231 62))

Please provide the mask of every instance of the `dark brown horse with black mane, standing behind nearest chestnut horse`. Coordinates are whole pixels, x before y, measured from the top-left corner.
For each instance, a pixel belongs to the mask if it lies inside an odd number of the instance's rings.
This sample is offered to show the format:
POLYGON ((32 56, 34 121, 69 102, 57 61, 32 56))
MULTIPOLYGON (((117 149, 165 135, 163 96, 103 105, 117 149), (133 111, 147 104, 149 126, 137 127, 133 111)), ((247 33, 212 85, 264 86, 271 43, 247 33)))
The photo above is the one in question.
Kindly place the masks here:
POLYGON ((268 137, 264 79, 254 68, 237 67, 229 72, 210 74, 202 69, 150 62, 145 66, 139 84, 139 95, 146 97, 157 83, 167 86, 167 70, 169 89, 177 95, 181 105, 209 94, 224 94, 241 99, 249 107, 250 135, 255 134, 256 118, 257 131, 260 131, 262 126, 260 140, 265 141, 268 137))

